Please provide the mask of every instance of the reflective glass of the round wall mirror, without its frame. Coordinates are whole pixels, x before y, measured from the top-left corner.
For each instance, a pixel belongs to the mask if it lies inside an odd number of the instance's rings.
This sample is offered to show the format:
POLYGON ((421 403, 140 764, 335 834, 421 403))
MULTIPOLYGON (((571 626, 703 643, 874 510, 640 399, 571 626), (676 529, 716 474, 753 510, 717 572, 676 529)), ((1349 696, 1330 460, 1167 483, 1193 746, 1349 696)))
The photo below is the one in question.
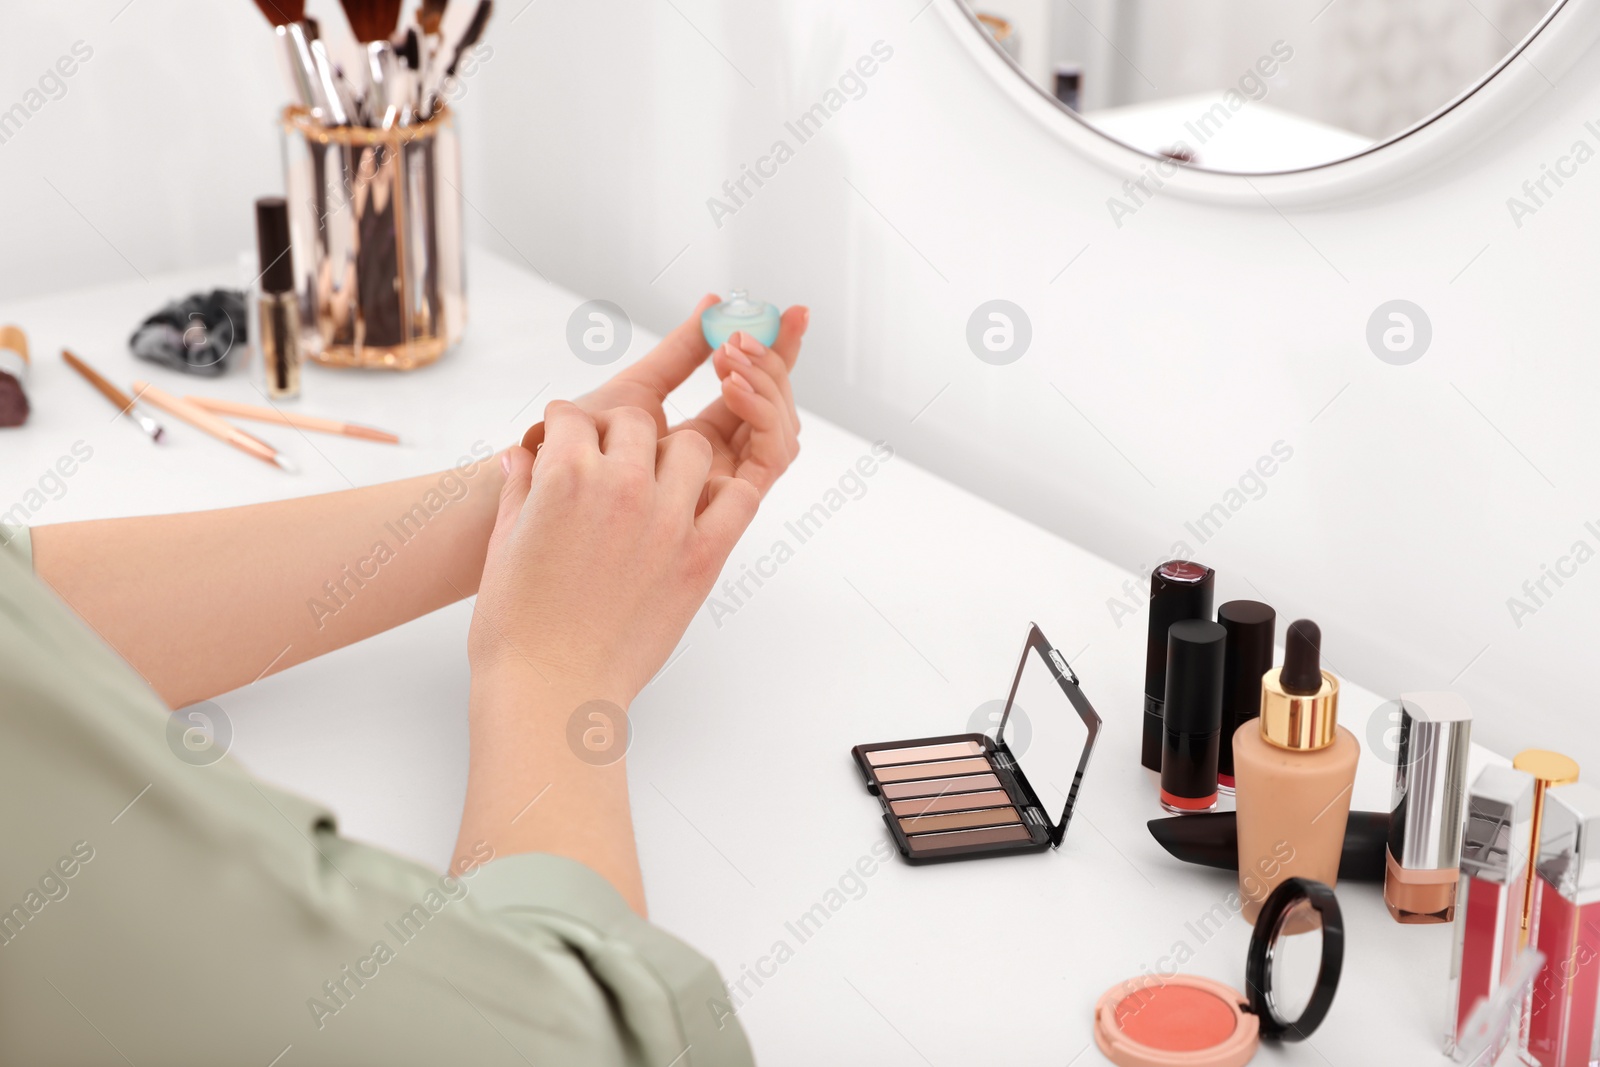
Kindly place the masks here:
POLYGON ((1482 85, 1562 3, 962 2, 1091 128, 1242 174, 1323 166, 1403 136, 1482 85))

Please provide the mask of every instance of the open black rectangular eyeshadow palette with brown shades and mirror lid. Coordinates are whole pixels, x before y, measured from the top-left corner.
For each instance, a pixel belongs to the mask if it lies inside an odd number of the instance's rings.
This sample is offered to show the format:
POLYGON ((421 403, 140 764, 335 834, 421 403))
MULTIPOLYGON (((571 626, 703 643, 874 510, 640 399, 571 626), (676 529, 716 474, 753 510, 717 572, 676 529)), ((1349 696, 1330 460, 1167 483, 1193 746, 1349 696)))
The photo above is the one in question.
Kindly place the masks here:
POLYGON ((1078 677, 1032 625, 994 737, 941 734, 850 753, 907 862, 1037 853, 1067 832, 1099 726, 1078 677))

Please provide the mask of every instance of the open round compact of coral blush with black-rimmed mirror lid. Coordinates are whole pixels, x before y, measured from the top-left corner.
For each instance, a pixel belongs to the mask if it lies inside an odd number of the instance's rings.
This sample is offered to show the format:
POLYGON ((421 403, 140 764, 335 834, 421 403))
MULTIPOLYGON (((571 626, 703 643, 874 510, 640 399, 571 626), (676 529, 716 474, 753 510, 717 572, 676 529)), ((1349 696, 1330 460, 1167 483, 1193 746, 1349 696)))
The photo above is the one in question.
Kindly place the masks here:
POLYGON ((1194 974, 1141 974, 1106 990, 1094 1006, 1094 1043, 1117 1067, 1243 1067, 1261 1038, 1302 1041, 1333 1006, 1344 966, 1344 920, 1333 889, 1288 878, 1261 909, 1250 937, 1245 989, 1194 974), (1320 934, 1309 995, 1286 989, 1290 942, 1320 934), (1288 941, 1285 941, 1288 939, 1288 941))

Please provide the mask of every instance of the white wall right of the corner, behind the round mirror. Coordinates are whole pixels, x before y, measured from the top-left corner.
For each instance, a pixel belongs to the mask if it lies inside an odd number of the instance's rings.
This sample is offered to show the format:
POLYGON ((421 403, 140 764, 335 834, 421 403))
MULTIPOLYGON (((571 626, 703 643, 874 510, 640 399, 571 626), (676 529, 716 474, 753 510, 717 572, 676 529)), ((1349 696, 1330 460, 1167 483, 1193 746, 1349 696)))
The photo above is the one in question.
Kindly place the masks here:
POLYGON ((1118 229, 1122 176, 1018 110, 922 6, 541 2, 502 21, 472 117, 485 238, 658 328, 731 282, 808 302, 813 410, 1130 568, 1187 541, 1226 597, 1318 619, 1336 670, 1454 685, 1491 745, 1600 760, 1578 667, 1600 563, 1520 629, 1506 603, 1574 541, 1600 550, 1600 163, 1520 229, 1506 206, 1574 139, 1600 146, 1600 58, 1403 187, 1285 214, 1158 197, 1118 229), (794 141, 784 120, 875 40, 894 56, 866 96, 718 227, 707 197, 794 141), (965 342, 990 298, 1032 318, 1011 366, 965 342), (1411 366, 1365 344, 1394 298, 1434 323, 1411 366), (1266 496, 1197 544, 1186 520, 1280 440, 1266 496))

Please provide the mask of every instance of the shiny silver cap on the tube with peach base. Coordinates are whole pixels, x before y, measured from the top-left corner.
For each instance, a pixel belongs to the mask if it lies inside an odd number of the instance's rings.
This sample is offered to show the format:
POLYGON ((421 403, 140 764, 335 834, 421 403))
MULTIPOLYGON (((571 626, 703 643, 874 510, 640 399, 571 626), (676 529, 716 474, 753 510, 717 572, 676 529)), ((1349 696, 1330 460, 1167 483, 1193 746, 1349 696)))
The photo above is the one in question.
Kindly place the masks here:
POLYGON ((1408 870, 1461 864, 1472 709, 1454 693, 1400 694, 1389 854, 1408 870))

